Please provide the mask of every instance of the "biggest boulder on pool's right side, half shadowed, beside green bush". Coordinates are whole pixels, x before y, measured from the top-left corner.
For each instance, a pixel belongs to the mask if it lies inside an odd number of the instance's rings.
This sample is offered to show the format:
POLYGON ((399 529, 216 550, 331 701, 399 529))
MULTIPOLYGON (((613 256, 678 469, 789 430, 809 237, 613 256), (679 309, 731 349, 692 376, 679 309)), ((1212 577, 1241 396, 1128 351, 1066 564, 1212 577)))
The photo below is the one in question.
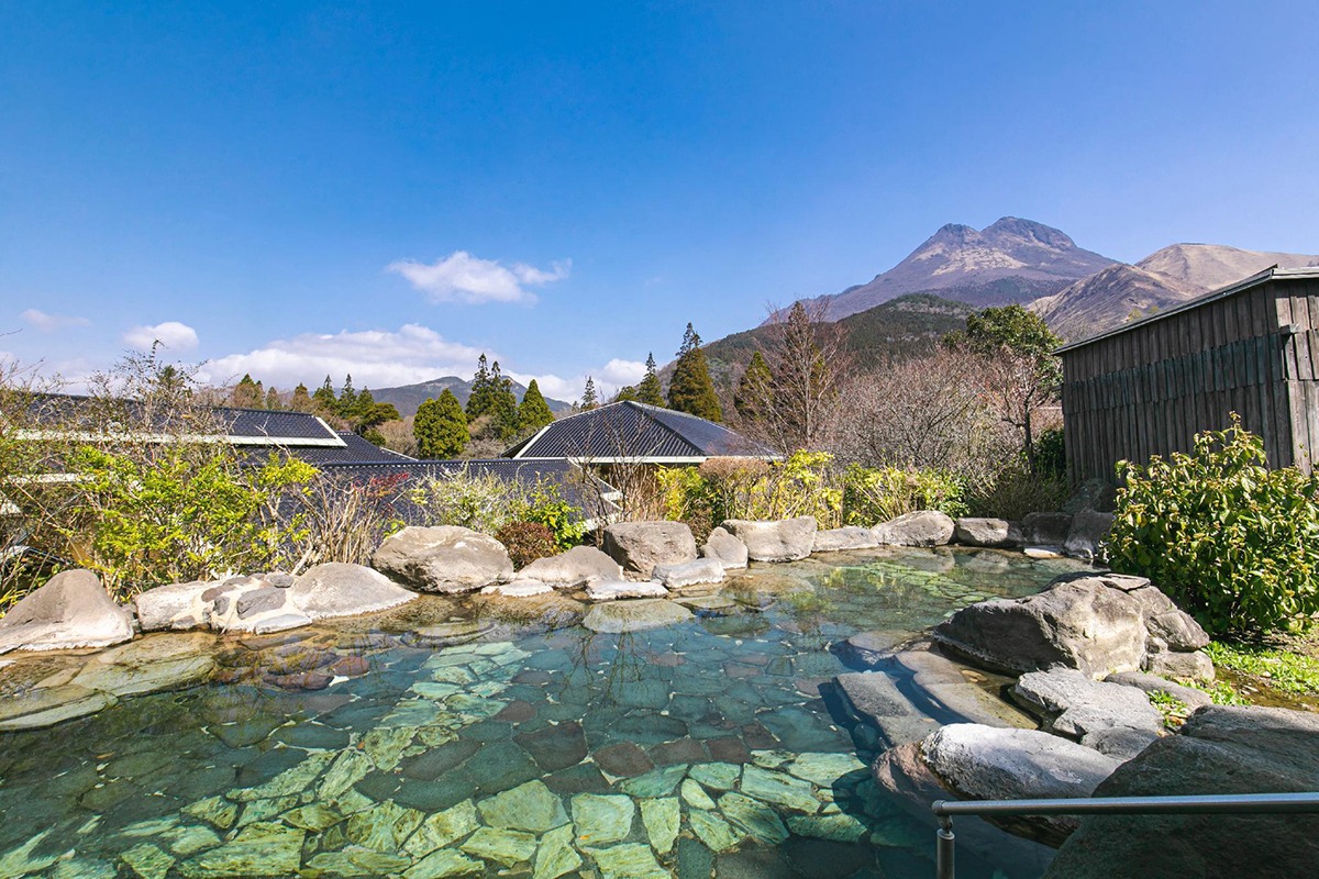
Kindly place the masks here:
POLYGON ((1053 666, 1088 677, 1144 671, 1150 656, 1191 652, 1208 635, 1145 577, 1064 575, 1025 598, 963 608, 934 630, 954 652, 995 671, 1053 666))

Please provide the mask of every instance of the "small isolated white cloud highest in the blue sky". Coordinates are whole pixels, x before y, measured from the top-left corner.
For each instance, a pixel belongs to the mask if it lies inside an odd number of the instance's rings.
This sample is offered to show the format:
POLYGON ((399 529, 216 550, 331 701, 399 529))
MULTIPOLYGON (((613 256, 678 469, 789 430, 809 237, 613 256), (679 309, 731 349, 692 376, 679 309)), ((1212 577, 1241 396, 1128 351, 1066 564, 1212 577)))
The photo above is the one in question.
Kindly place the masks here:
POLYGON ((408 278, 431 302, 485 302, 534 303, 536 294, 526 287, 538 287, 551 281, 562 281, 572 269, 571 260, 554 262, 550 270, 517 262, 504 266, 495 260, 474 257, 467 250, 455 250, 431 264, 400 260, 385 266, 408 278))

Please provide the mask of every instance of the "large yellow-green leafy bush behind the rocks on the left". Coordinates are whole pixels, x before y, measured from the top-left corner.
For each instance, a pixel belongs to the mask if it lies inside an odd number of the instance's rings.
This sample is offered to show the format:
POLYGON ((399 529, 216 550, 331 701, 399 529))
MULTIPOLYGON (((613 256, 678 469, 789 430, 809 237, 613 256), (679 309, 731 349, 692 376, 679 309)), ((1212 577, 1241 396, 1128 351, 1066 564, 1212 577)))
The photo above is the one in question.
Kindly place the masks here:
POLYGON ((315 468, 297 459, 270 460, 251 472, 227 448, 198 460, 183 444, 150 457, 100 447, 77 449, 70 464, 82 477, 66 536, 84 546, 91 568, 120 596, 165 582, 268 571, 288 561, 298 517, 277 515, 285 492, 297 492, 315 468))

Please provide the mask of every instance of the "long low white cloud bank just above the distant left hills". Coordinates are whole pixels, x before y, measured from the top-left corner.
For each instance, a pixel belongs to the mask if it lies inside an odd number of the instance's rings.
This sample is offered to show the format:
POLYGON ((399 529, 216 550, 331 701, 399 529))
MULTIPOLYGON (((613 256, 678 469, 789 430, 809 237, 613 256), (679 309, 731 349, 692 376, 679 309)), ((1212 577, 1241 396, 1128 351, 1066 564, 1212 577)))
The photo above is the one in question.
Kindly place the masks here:
POLYGON ((326 376, 338 387, 343 377, 351 374, 359 389, 396 387, 441 376, 467 378, 476 370, 480 354, 481 349, 447 341, 434 329, 406 324, 397 332, 342 331, 276 339, 245 354, 206 361, 198 378, 227 383, 251 373, 268 386, 288 389, 306 382, 314 389, 326 376))

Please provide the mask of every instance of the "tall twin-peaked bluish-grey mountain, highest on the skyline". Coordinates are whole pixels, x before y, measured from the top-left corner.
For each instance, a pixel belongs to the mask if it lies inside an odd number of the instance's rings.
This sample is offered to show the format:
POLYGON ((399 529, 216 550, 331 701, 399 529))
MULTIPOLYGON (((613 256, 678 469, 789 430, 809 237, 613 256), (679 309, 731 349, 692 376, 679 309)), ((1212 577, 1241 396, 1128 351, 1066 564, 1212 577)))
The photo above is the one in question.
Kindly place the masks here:
POLYGON ((1053 227, 1005 216, 980 231, 948 224, 869 283, 809 302, 827 303, 830 320, 913 293, 983 308, 1053 295, 1113 264, 1053 227))

